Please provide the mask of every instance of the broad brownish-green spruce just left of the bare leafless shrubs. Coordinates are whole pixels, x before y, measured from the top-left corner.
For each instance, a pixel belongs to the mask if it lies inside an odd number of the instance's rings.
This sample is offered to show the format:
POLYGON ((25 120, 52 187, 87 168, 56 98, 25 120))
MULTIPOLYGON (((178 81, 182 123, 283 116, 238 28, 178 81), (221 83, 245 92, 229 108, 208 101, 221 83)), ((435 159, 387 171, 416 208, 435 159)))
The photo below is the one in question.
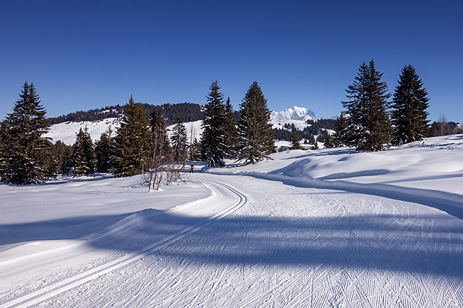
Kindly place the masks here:
POLYGON ((145 109, 130 95, 114 140, 114 176, 135 176, 143 172, 150 156, 150 139, 150 121, 145 109))

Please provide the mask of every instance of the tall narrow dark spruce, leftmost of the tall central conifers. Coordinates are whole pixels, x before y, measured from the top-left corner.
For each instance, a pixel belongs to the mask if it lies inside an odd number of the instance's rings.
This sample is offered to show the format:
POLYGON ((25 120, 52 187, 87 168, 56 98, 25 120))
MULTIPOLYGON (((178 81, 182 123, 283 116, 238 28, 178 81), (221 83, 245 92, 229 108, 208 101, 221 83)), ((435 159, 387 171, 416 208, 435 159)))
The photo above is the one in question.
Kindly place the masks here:
POLYGON ((200 142, 204 161, 211 167, 225 166, 224 157, 227 153, 224 95, 219 90, 220 87, 216 80, 209 87, 203 111, 204 121, 200 142))

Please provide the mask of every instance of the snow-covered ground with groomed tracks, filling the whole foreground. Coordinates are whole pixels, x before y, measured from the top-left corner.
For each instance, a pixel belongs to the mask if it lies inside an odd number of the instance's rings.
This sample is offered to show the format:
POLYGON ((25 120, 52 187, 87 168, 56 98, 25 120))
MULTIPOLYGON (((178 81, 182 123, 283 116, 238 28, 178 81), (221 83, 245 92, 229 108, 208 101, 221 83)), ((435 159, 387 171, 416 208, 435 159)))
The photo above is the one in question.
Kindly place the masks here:
POLYGON ((463 307, 463 135, 0 185, 0 307, 463 307))

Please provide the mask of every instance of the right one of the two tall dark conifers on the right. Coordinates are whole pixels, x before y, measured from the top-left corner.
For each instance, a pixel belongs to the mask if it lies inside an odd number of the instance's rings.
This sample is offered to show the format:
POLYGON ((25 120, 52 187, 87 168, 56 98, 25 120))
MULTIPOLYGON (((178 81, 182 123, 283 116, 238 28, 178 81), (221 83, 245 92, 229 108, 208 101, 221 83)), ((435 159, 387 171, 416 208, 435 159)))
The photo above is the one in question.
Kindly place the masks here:
POLYGON ((429 99, 412 65, 406 65, 399 76, 392 100, 392 144, 400 145, 422 140, 430 134, 426 111, 429 99))

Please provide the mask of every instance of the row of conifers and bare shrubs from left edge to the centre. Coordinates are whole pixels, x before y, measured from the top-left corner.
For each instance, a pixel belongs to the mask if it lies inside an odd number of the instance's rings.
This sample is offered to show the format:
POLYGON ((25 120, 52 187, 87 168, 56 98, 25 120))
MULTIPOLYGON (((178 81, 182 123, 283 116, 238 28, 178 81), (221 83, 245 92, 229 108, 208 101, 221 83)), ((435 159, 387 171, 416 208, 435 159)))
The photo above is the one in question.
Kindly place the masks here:
POLYGON ((211 167, 224 166, 224 159, 254 164, 270 159, 274 152, 270 111, 255 82, 241 102, 238 118, 217 81, 212 83, 202 110, 201 138, 189 141, 180 110, 169 138, 164 108, 154 107, 148 117, 146 106, 130 96, 115 132, 108 128, 93 143, 85 127, 73 146, 59 141, 52 144, 43 137, 50 123, 33 84, 24 83, 19 97, 0 126, 0 176, 4 183, 36 184, 58 174, 110 172, 116 177, 145 174, 147 186, 156 189, 162 180, 167 184, 178 181, 187 160, 207 161, 211 167))

